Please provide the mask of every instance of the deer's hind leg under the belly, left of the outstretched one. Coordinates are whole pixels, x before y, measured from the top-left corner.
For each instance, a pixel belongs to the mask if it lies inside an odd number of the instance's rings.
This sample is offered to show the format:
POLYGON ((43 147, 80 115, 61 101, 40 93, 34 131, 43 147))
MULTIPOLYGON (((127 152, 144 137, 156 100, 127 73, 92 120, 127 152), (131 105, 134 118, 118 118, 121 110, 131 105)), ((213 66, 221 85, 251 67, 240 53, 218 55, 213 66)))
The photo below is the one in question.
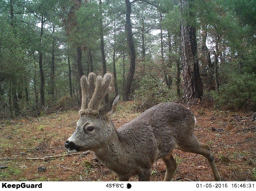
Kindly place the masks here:
POLYGON ((168 154, 166 157, 162 158, 166 166, 166 172, 164 181, 171 181, 175 170, 177 169, 177 163, 172 156, 172 153, 168 154))

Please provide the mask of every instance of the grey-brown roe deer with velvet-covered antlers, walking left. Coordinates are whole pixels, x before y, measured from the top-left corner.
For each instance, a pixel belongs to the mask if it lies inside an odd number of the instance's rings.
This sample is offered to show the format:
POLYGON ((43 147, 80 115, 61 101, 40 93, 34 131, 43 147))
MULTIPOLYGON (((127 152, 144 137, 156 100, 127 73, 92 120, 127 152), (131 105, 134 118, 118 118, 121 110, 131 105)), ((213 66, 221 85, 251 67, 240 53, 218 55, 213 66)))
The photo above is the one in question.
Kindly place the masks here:
POLYGON ((167 168, 164 181, 170 181, 177 168, 172 151, 178 149, 205 156, 214 180, 220 181, 210 147, 194 135, 196 118, 178 103, 160 103, 115 129, 111 116, 119 95, 100 108, 100 102, 111 91, 111 81, 110 73, 97 79, 94 73, 89 73, 88 79, 81 77, 81 118, 73 135, 66 140, 69 153, 93 151, 120 181, 128 181, 133 175, 138 175, 139 181, 149 181, 152 164, 163 159, 167 168))

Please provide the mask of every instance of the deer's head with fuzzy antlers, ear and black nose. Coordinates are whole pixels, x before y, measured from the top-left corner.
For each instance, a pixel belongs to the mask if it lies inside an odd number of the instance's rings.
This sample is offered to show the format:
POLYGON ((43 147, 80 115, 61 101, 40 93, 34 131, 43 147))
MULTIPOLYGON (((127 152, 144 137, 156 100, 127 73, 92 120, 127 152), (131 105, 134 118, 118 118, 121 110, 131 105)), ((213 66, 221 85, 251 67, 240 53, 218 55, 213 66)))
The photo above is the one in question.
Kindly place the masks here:
POLYGON ((108 141, 110 135, 115 131, 110 119, 117 107, 119 95, 112 102, 100 108, 100 103, 111 91, 110 83, 112 75, 106 73, 104 77, 89 73, 88 79, 81 77, 82 104, 76 123, 76 130, 68 140, 65 147, 69 153, 78 151, 97 151, 108 141))

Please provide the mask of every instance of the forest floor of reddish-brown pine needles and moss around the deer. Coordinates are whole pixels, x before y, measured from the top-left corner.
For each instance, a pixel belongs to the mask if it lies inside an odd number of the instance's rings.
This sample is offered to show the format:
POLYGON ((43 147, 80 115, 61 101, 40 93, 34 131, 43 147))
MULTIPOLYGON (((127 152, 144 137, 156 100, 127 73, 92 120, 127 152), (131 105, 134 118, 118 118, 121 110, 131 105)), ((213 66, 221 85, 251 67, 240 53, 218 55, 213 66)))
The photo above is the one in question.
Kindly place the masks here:
MULTIPOLYGON (((119 104, 112 117, 117 128, 140 114, 133 108, 133 102, 119 104)), ((200 142, 211 146, 222 179, 256 181, 256 129, 250 129, 256 127, 256 121, 250 120, 252 113, 202 106, 190 109, 197 119, 195 134, 200 142)), ((53 159, 27 159, 65 155, 64 142, 75 131, 78 118, 77 111, 66 111, 0 121, 0 166, 7 167, 0 169, 0 181, 116 181, 117 176, 102 166, 91 151, 53 159)), ((173 151, 173 156, 178 164, 174 181, 214 180, 203 156, 178 150, 173 151)), ((162 181, 164 174, 164 162, 155 162, 151 181, 162 181)), ((137 176, 130 178, 136 180, 137 176)))

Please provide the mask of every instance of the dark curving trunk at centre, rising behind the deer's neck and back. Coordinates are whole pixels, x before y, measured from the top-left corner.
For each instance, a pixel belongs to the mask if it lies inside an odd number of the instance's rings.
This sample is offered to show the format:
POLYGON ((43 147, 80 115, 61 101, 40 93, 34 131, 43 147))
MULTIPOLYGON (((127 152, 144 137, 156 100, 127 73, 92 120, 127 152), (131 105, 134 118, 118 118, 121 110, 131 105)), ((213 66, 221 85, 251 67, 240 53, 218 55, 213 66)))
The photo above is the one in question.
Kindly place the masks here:
POLYGON ((131 27, 131 2, 130 0, 125 0, 126 4, 126 22, 125 27, 127 31, 127 41, 128 47, 130 49, 130 69, 128 71, 126 86, 125 86, 125 96, 124 100, 127 101, 129 99, 131 93, 131 83, 133 81, 133 76, 135 72, 135 61, 136 61, 136 53, 133 42, 133 32, 131 27))

